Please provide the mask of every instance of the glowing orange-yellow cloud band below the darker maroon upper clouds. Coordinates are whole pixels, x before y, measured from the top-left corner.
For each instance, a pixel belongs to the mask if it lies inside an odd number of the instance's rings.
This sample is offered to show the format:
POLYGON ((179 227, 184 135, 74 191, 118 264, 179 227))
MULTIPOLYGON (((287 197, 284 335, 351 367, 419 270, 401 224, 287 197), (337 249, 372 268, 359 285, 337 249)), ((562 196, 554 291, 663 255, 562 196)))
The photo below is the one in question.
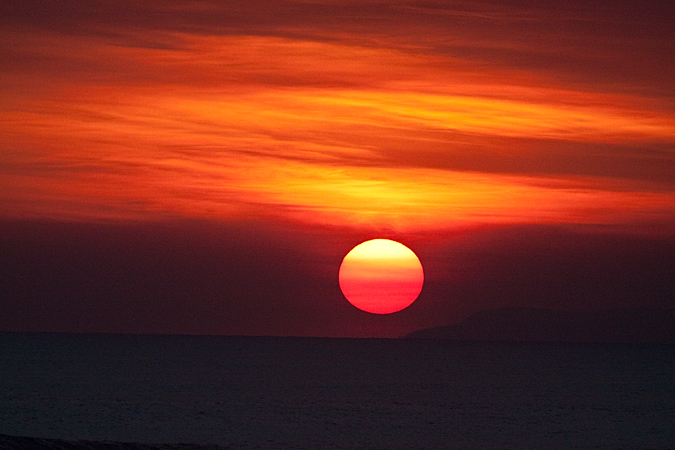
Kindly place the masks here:
POLYGON ((672 180, 656 175, 675 167, 667 99, 353 33, 142 36, 162 45, 2 32, 15 55, 0 70, 5 217, 397 229, 675 218, 672 180), (567 164, 552 171, 561 142, 567 164), (614 176, 585 162, 603 158, 619 161, 614 176))

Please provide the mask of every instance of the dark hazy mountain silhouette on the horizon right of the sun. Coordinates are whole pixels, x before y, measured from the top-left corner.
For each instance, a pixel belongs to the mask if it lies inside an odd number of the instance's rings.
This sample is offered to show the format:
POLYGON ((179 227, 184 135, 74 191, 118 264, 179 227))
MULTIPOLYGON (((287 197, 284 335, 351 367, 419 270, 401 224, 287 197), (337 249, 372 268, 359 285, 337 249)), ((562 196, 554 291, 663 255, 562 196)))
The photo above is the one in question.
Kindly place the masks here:
POLYGON ((596 312, 502 308, 464 322, 415 331, 409 339, 497 342, 675 344, 675 309, 596 312))

